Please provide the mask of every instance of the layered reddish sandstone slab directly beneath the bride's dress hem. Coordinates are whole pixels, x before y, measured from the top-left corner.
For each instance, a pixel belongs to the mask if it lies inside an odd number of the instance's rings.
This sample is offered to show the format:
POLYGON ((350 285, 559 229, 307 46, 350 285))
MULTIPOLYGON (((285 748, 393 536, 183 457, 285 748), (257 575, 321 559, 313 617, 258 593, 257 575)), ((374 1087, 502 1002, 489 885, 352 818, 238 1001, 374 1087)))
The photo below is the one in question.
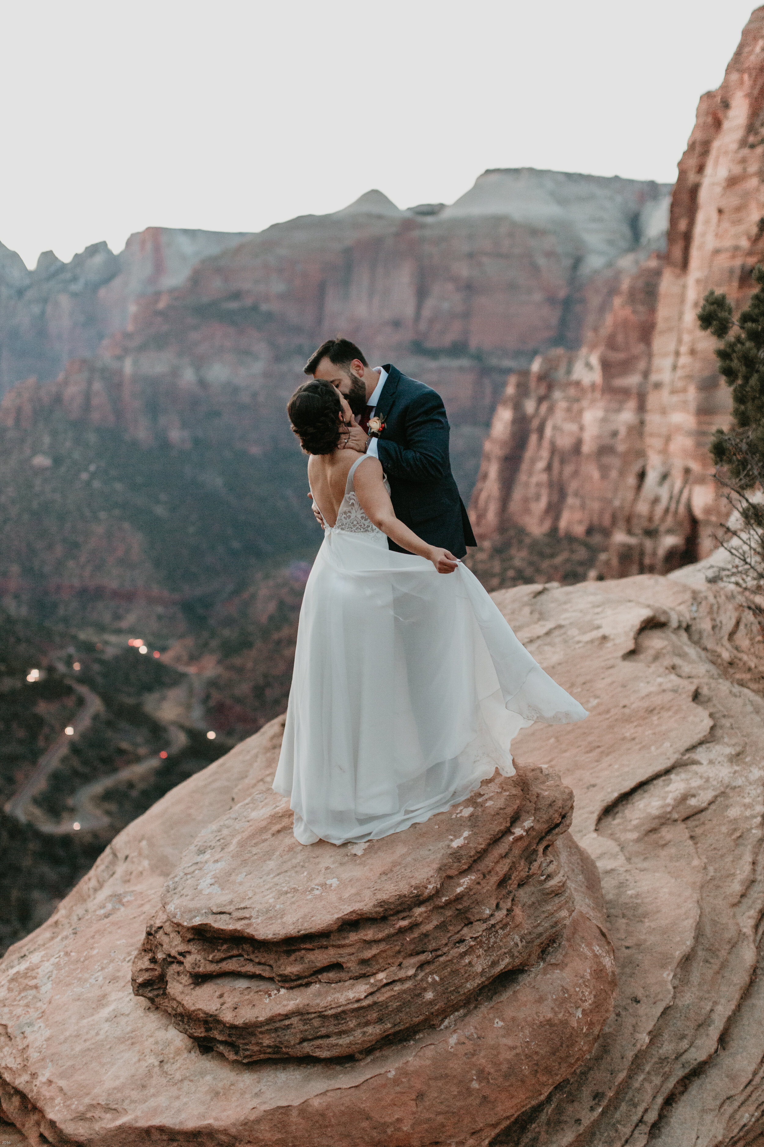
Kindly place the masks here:
POLYGON ((250 797, 165 885, 134 991, 244 1061, 410 1036, 560 941, 572 803, 541 773, 496 778, 410 832, 306 856, 286 802, 250 797))

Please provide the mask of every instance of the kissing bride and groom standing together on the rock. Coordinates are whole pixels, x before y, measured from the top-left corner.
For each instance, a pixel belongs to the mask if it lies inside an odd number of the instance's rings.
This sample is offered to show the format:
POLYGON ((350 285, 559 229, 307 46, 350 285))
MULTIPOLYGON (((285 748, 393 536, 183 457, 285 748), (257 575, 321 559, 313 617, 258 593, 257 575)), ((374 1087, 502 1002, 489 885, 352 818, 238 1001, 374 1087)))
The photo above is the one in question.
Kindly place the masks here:
POLYGON ((347 338, 286 407, 324 540, 305 587, 274 789, 301 844, 378 840, 463 801, 535 720, 585 709, 463 564, 474 546, 436 391, 347 338))

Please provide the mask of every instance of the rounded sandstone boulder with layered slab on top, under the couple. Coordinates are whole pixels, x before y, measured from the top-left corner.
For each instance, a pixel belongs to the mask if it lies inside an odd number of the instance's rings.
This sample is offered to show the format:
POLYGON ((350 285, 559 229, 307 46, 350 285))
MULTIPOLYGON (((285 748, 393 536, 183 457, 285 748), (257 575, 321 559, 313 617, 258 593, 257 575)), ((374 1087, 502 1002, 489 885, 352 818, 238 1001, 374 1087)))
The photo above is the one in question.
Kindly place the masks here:
POLYGON ((305 849, 269 789, 282 727, 131 825, 7 954, 0 1102, 31 1141, 482 1144, 591 1052, 615 980, 570 790, 530 767, 305 849))

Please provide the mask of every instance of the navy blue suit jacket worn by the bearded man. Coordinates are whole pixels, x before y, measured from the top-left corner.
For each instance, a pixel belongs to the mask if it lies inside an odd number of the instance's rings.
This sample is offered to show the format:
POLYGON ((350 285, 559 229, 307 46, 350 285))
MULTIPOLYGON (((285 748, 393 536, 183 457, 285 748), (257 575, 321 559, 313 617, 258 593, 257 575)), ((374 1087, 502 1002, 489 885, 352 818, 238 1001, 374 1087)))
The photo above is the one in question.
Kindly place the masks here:
MULTIPOLYGON (((385 423, 377 451, 391 487, 393 509, 423 541, 464 557, 475 546, 448 454, 450 428, 438 391, 387 365, 375 414, 385 423)), ((394 541, 391 549, 407 553, 394 541)))

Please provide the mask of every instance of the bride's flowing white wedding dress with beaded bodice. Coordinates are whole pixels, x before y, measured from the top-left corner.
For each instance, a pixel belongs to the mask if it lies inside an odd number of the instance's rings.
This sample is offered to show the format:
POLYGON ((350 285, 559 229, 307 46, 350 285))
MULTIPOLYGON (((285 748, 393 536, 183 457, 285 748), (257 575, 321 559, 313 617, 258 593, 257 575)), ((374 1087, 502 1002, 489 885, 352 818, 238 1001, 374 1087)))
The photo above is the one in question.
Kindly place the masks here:
POLYGON ((586 716, 463 564, 399 554, 345 498, 305 588, 274 789, 294 835, 342 844, 427 820, 496 768, 535 720, 586 716))

